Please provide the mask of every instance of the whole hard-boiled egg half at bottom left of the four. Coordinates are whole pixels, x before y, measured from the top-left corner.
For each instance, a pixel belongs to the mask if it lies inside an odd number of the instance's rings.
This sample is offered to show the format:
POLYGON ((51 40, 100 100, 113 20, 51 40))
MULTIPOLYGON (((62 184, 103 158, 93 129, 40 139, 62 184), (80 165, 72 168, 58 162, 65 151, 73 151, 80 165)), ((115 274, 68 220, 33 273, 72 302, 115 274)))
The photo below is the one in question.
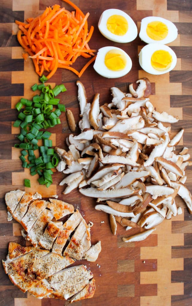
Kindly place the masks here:
POLYGON ((126 75, 132 67, 129 55, 117 47, 103 47, 98 50, 93 68, 101 76, 118 78, 126 75))

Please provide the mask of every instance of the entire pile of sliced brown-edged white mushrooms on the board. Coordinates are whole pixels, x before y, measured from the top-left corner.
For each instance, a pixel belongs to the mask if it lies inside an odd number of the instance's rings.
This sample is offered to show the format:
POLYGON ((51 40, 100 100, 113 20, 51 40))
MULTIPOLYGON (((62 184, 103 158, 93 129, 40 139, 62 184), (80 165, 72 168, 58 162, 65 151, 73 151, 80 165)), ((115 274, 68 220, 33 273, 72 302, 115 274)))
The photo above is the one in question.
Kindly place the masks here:
MULTIPOLYGON (((112 87, 111 103, 100 106, 99 93, 88 103, 84 85, 77 81, 81 132, 67 137, 67 151, 55 147, 60 157, 57 170, 65 174, 59 184, 65 185, 63 194, 79 188, 81 194, 96 198, 95 209, 109 214, 114 235, 117 222, 126 230, 140 228, 123 237, 125 242, 144 240, 165 218, 181 214, 176 195, 192 214, 192 196, 184 185, 190 154, 186 147, 175 151, 184 129, 170 139, 170 125, 179 118, 155 110, 147 78, 136 83, 136 89, 129 85, 129 93, 112 87)), ((67 119, 74 132, 71 111, 67 119)))

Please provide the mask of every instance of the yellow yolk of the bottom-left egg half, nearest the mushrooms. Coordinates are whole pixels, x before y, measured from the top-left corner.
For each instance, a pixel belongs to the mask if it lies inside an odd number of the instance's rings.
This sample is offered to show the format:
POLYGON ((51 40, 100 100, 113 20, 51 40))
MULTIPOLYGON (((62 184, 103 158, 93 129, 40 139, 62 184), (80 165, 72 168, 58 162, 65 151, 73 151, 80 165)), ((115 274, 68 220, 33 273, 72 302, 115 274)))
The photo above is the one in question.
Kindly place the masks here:
POLYGON ((105 55, 105 65, 113 71, 120 71, 125 68, 127 63, 126 57, 119 50, 110 50, 105 55))

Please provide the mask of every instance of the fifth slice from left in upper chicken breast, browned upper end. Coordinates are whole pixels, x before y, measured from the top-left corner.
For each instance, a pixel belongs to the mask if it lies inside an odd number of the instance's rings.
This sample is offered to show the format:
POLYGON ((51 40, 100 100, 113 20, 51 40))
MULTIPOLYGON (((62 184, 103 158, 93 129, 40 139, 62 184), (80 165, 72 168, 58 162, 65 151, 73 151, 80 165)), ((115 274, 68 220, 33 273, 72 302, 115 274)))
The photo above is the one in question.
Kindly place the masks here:
POLYGON ((56 239, 60 228, 52 221, 47 225, 43 235, 41 236, 38 244, 47 250, 52 248, 53 242, 56 239))

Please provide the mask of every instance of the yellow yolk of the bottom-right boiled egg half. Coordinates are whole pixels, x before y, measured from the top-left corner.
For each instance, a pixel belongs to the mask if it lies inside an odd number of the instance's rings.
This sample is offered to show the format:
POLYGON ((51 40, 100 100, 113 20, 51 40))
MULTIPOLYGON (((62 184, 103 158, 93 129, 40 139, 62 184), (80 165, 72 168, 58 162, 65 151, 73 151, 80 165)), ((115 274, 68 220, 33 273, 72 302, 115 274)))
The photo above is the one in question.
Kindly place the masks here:
POLYGON ((151 65, 156 70, 166 70, 171 66, 172 56, 166 50, 157 50, 152 54, 151 65))

